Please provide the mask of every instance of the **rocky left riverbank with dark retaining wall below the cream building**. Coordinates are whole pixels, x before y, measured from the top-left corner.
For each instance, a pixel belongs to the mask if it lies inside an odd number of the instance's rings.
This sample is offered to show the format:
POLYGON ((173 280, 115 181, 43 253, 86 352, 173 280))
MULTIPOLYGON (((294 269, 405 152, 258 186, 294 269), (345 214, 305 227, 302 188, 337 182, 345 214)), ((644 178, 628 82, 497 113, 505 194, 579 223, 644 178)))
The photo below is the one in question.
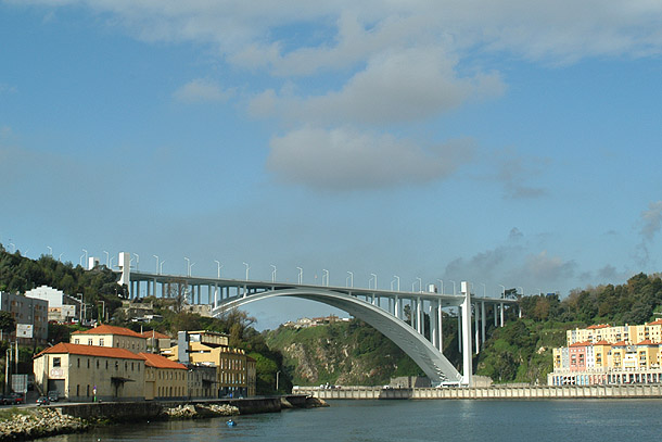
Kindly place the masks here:
POLYGON ((0 441, 30 440, 86 431, 98 425, 279 413, 287 408, 328 406, 305 395, 213 401, 103 402, 44 407, 14 407, 0 415, 0 441))

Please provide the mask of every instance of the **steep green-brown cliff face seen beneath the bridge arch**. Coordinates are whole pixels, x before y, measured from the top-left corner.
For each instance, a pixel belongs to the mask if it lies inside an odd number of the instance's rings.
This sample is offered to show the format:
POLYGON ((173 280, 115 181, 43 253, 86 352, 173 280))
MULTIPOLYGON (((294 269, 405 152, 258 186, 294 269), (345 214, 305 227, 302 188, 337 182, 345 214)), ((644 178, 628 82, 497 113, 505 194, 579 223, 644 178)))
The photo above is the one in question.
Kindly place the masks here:
POLYGON ((417 376, 420 369, 393 342, 365 323, 336 323, 267 332, 267 343, 283 354, 294 384, 387 383, 394 376, 417 376))

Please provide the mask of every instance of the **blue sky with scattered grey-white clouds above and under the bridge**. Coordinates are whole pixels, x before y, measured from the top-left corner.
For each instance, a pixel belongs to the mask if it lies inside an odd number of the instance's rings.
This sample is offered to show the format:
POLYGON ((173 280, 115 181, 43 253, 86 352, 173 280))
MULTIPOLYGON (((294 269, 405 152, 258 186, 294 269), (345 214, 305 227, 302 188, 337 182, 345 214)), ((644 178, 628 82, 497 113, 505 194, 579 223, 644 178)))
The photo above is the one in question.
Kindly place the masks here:
POLYGON ((0 0, 0 242, 343 287, 623 283, 662 264, 660 23, 650 0, 0 0))

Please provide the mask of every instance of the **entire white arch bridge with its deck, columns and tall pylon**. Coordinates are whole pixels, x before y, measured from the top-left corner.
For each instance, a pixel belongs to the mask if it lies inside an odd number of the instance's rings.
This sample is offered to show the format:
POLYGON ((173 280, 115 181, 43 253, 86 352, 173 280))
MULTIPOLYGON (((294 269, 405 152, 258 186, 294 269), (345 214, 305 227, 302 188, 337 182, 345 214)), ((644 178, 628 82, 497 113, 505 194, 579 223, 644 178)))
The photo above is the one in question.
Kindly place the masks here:
MULTIPOLYGON (((129 266, 124 267, 120 275, 119 283, 129 287, 131 299, 139 298, 141 290, 143 295, 148 296, 161 294, 162 298, 173 298, 183 288, 183 293, 191 304, 211 305, 214 316, 251 302, 278 296, 307 299, 331 305, 381 331, 419 365, 433 384, 451 382, 470 386, 472 352, 480 352, 481 342, 485 341, 487 311, 491 310, 494 314, 495 326, 502 326, 505 308, 517 304, 517 301, 511 299, 471 294, 471 285, 466 281, 460 285, 460 294, 447 294, 435 291, 407 292, 163 275, 131 271, 129 266), (458 350, 462 353, 463 375, 460 375, 442 353, 442 323, 448 320, 448 316, 444 318, 444 308, 457 311, 458 350), (429 330, 424 327, 424 313, 429 314, 429 330)), ((432 285, 429 287, 436 290, 432 285)))

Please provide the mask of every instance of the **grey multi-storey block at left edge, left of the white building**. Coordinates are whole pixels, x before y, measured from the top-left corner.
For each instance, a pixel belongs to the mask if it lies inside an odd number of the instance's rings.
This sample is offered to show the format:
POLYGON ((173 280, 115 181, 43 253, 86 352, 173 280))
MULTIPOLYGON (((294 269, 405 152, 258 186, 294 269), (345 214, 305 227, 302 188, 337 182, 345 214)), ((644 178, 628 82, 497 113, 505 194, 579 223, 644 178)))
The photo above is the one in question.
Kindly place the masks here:
MULTIPOLYGON (((16 323, 18 344, 42 345, 48 341, 48 301, 0 292, 0 310, 9 312, 16 323)), ((5 341, 16 340, 16 330, 3 336, 5 341)))

